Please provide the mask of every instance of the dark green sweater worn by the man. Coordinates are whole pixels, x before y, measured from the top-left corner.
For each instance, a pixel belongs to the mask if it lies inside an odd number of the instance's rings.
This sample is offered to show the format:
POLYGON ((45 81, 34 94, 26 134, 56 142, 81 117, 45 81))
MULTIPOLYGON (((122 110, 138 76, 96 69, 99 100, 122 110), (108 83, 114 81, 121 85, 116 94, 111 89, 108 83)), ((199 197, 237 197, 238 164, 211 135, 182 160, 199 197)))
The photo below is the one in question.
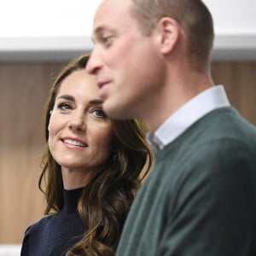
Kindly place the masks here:
POLYGON ((157 152, 116 255, 255 256, 255 127, 219 108, 157 152))

